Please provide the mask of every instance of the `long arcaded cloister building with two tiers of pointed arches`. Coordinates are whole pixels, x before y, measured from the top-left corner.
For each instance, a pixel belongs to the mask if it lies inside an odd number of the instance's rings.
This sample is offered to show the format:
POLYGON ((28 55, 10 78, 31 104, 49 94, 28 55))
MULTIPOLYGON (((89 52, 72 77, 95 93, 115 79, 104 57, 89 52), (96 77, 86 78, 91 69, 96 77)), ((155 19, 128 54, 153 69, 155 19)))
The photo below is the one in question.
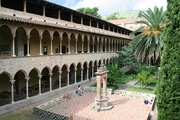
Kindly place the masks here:
POLYGON ((0 0, 0 106, 89 81, 130 32, 45 0, 0 0))

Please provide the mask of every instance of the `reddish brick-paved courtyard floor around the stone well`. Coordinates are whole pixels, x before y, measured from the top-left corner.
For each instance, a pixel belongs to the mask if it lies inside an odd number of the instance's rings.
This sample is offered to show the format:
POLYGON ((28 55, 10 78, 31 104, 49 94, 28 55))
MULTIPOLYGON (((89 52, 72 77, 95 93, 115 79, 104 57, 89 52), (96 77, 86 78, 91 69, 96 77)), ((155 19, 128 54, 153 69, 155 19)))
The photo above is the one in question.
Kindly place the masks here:
POLYGON ((72 116, 73 120, 147 120, 152 105, 145 105, 143 99, 110 95, 111 110, 96 112, 92 109, 96 93, 85 92, 58 105, 49 112, 72 116))

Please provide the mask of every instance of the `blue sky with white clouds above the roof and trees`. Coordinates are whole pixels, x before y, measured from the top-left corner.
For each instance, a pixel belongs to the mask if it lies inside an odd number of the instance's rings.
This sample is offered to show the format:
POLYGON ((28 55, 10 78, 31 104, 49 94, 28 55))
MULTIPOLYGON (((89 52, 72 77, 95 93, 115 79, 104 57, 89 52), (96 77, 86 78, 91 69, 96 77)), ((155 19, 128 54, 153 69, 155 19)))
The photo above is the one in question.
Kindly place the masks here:
POLYGON ((154 6, 163 7, 166 10, 167 0, 47 0, 76 10, 81 7, 98 7, 99 14, 107 17, 115 12, 124 10, 147 10, 154 6))

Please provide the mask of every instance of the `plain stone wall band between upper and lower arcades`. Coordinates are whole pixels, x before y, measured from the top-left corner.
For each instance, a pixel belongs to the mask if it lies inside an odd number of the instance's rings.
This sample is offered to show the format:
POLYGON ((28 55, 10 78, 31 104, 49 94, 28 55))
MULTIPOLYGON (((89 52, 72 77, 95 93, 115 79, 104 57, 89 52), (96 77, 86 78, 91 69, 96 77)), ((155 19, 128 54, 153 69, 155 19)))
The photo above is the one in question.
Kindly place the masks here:
POLYGON ((17 57, 9 59, 0 59, 1 67, 0 73, 8 72, 15 75, 17 71, 24 70, 27 74, 33 69, 37 68, 41 71, 48 66, 51 70, 54 66, 62 67, 64 64, 70 66, 72 63, 89 63, 90 61, 109 59, 116 56, 116 53, 89 53, 89 54, 64 54, 64 55, 47 55, 37 57, 17 57), (88 56, 88 57, 87 57, 88 56))

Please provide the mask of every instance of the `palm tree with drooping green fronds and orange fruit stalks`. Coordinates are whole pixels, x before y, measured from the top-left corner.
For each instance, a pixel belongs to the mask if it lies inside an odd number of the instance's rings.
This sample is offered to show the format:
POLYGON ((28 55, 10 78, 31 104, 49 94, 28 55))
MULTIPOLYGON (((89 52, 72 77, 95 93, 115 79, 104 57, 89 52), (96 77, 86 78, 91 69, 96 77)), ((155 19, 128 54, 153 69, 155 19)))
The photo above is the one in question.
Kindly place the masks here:
POLYGON ((161 38, 163 29, 165 28, 165 14, 163 8, 154 7, 154 11, 150 8, 147 11, 141 11, 139 14, 145 20, 136 21, 137 24, 144 24, 131 33, 135 36, 132 39, 134 55, 138 60, 145 61, 153 58, 156 66, 156 77, 158 67, 161 61, 161 52, 164 42, 161 38))

